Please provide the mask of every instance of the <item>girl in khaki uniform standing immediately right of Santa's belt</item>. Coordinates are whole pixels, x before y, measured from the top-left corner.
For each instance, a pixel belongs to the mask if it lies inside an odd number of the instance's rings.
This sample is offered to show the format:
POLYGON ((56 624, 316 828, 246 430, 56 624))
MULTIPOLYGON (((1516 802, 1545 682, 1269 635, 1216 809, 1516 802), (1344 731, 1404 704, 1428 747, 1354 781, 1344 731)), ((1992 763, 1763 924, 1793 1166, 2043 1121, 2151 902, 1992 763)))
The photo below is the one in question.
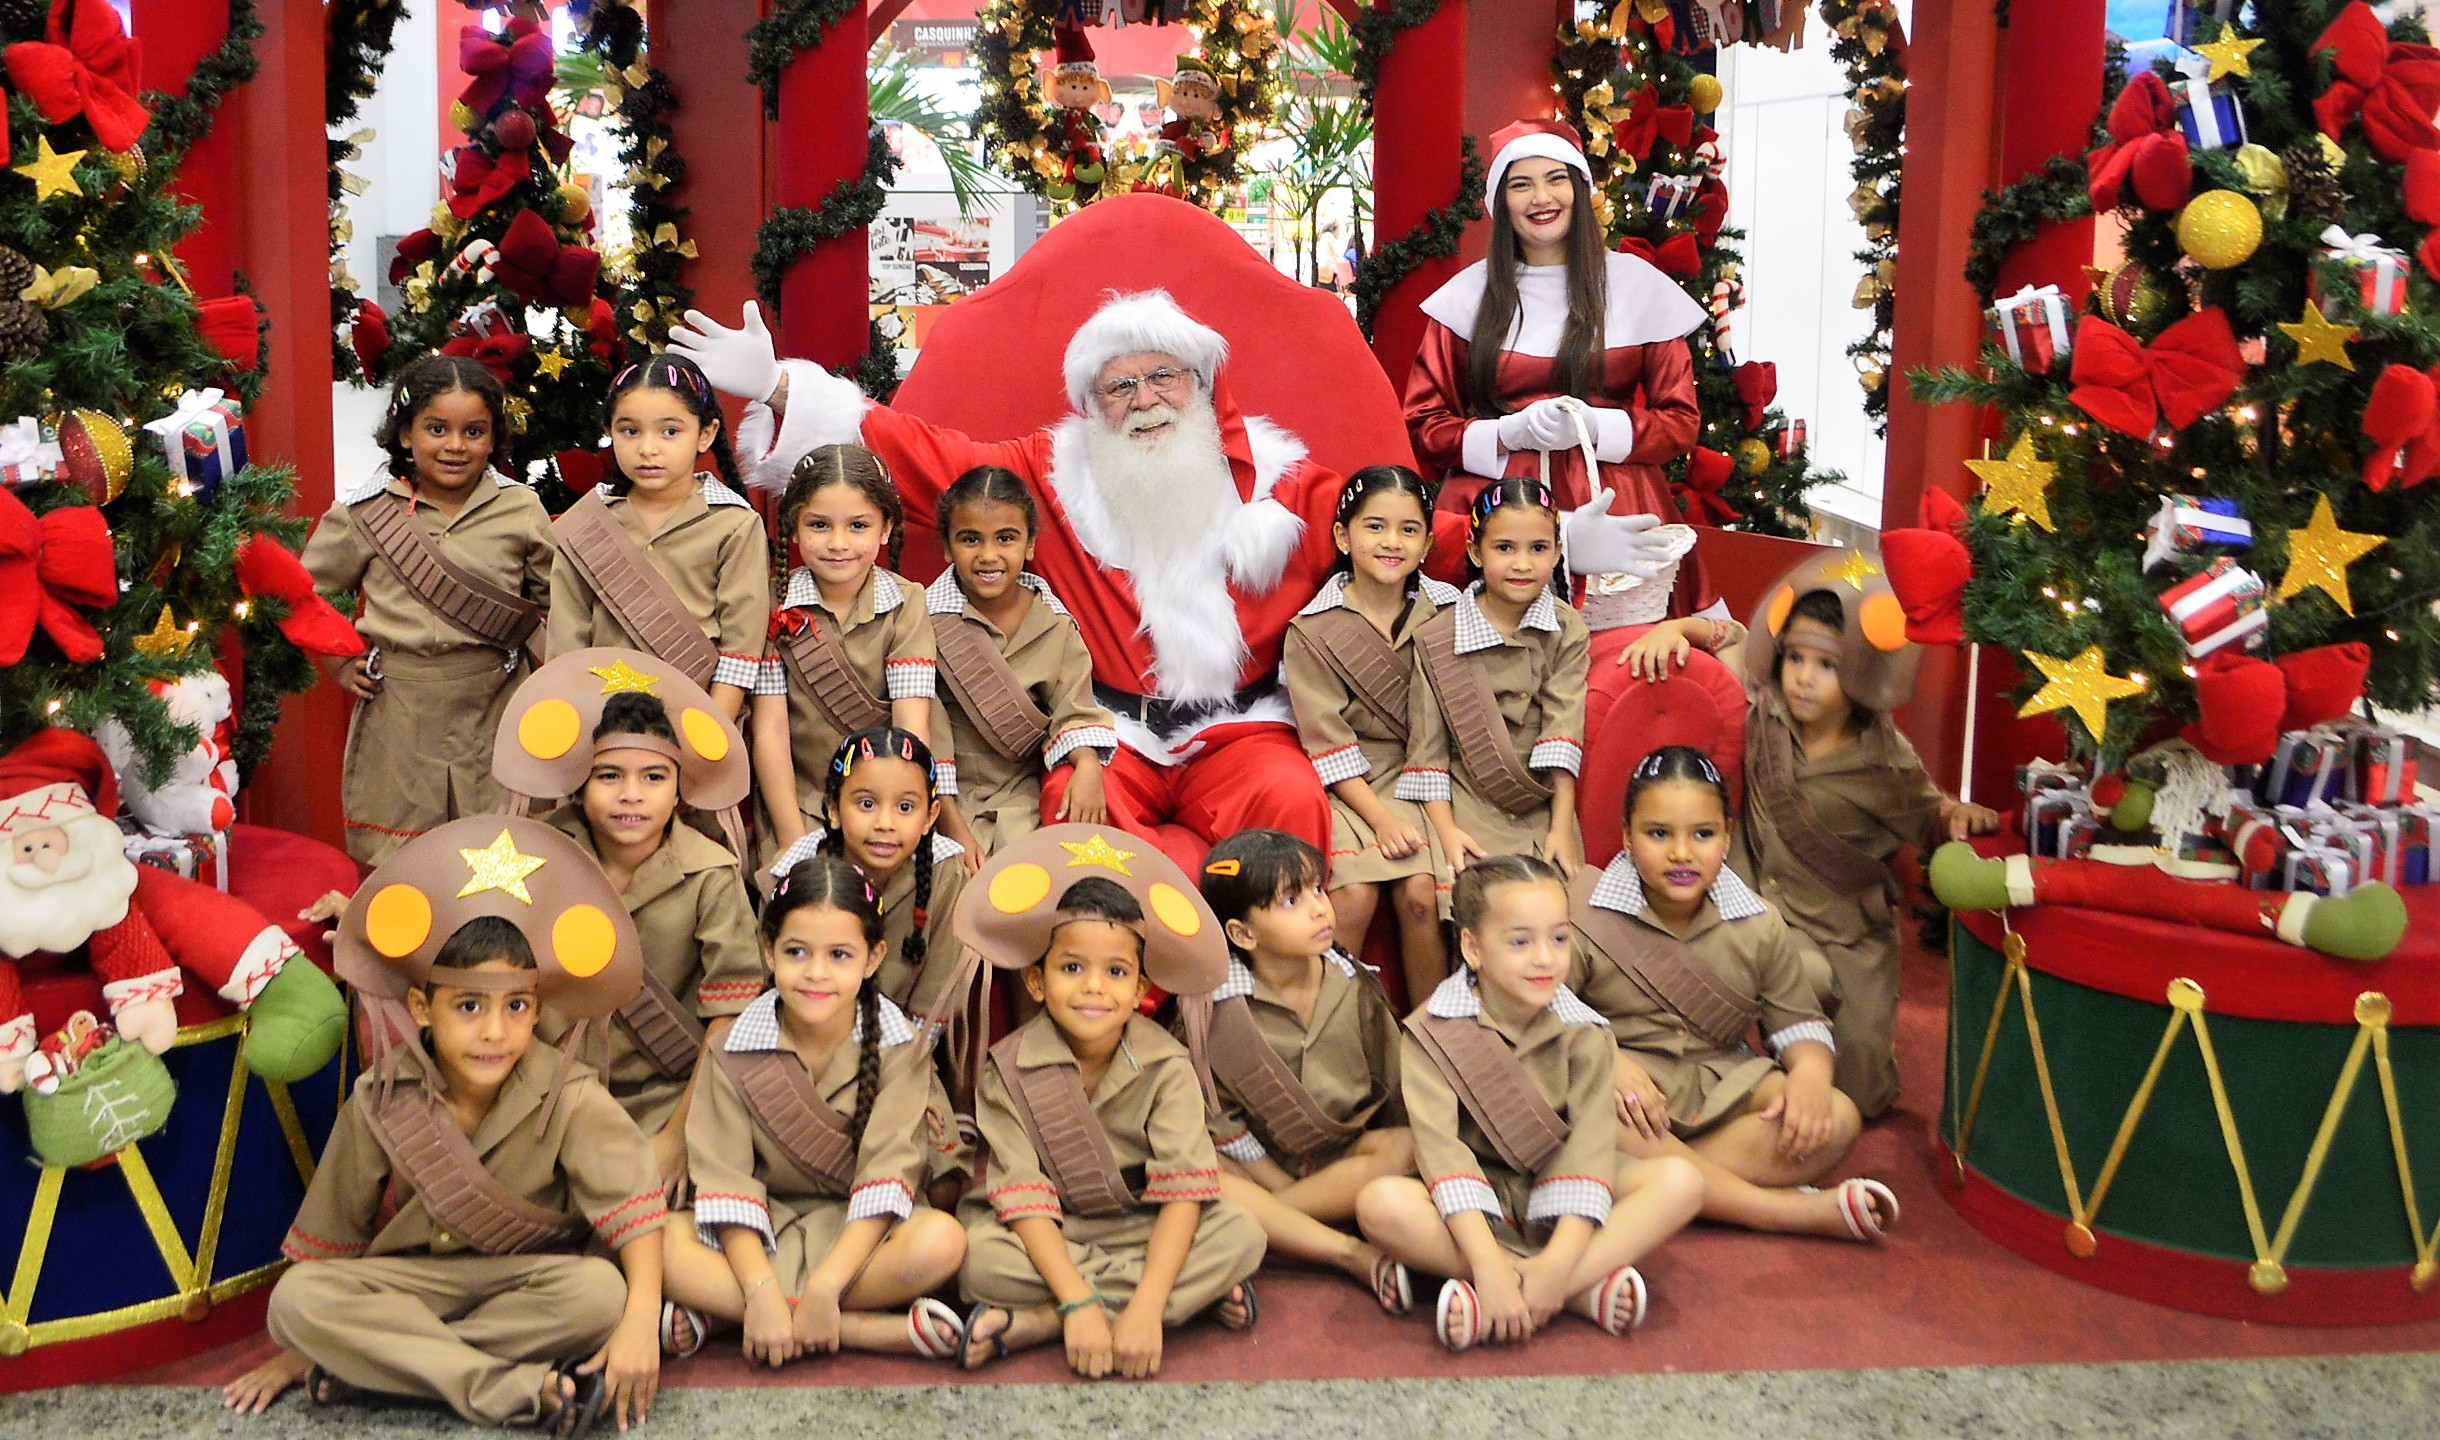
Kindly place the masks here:
POLYGON ((1281 639, 1281 681, 1296 737, 1330 788, 1330 905, 1347 949, 1362 952, 1381 898, 1396 905, 1410 996, 1449 974, 1440 830, 1398 798, 1413 725, 1415 632, 1457 603, 1423 576, 1432 549, 1432 486, 1405 466, 1364 466, 1340 491, 1332 539, 1347 569, 1330 576, 1281 639))

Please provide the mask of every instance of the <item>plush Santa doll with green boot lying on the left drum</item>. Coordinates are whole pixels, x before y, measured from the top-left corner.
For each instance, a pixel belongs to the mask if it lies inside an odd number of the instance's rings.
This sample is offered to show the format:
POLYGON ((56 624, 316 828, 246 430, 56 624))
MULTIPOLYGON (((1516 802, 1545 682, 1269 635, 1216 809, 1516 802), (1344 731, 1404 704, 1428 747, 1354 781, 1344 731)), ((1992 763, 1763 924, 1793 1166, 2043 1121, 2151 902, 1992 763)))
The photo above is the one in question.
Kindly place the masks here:
MULTIPOLYGON (((100 744, 39 730, 0 754, 0 957, 85 949, 120 1035, 161 1054, 178 1037, 185 976, 246 1010, 246 1064, 298 1081, 339 1052, 339 988, 254 905, 137 866, 117 827, 117 779, 100 744)), ((24 1084, 34 1015, 0 964, 0 1091, 24 1084)))

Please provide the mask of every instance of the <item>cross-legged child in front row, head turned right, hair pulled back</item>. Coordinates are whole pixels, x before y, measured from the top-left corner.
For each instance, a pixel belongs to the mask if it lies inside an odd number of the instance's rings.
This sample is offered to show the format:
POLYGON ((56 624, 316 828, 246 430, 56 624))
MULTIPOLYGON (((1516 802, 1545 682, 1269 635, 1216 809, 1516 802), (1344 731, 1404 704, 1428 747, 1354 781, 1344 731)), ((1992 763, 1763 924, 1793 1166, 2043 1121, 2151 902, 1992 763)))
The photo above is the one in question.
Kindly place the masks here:
POLYGON ((1364 1186, 1357 1220, 1401 1264, 1449 1276, 1435 1308, 1449 1350, 1525 1340, 1562 1308, 1630 1335, 1645 1320, 1635 1262, 1696 1215, 1703 1174, 1615 1152, 1615 1049, 1562 984, 1557 866, 1484 859, 1457 876, 1452 908, 1466 969, 1408 1015, 1398 1057, 1423 1179, 1364 1186), (1486 1093, 1518 1101, 1479 1111, 1486 1093))

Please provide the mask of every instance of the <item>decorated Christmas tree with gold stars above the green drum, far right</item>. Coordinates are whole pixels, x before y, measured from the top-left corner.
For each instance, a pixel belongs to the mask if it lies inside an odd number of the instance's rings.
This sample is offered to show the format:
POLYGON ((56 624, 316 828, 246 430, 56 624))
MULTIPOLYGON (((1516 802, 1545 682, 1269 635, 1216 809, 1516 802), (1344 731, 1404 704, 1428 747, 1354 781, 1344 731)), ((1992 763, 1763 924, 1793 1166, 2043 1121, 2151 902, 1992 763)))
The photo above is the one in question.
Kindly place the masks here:
POLYGON ((2176 725, 2259 761, 2357 696, 2428 705, 2440 661, 2440 51, 2359 2, 2198 29, 2137 51, 2084 166, 1993 198, 1969 273, 2084 205, 2125 264, 2081 308, 2074 276, 2001 295, 1981 371, 1915 376, 2001 417, 1967 635, 2111 764, 2176 725))

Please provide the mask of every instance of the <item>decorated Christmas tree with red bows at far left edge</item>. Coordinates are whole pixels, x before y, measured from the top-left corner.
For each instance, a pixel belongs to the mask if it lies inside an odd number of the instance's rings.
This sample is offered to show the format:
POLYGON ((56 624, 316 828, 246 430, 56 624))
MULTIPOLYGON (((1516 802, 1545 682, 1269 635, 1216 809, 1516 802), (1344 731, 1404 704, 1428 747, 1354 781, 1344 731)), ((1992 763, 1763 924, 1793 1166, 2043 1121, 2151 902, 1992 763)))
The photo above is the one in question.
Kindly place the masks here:
POLYGON ((117 720, 159 783, 203 740, 159 688, 237 639, 249 769, 315 679, 283 627, 346 642, 285 549, 290 471, 246 464, 259 310, 198 300, 171 259, 200 220, 171 195, 178 161, 251 78, 261 24, 237 0, 183 95, 139 90, 107 0, 0 5, 0 749, 117 720))

